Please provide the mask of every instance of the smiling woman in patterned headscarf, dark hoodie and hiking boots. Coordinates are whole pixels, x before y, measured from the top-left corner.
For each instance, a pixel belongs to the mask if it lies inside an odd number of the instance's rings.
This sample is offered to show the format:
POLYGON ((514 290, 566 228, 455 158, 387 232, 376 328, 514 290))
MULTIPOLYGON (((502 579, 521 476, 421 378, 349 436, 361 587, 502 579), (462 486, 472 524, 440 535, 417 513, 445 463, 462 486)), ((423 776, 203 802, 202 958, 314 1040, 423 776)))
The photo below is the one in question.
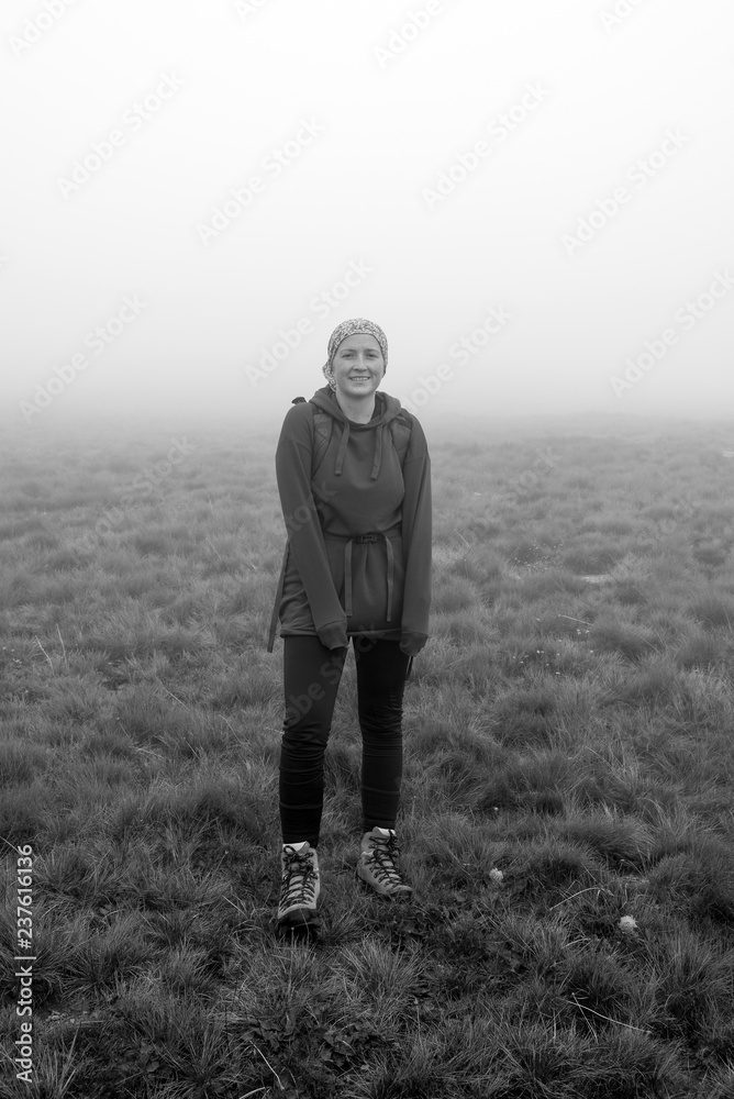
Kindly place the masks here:
POLYGON ((378 391, 387 363, 377 324, 340 324, 323 367, 329 385, 293 401, 276 452, 288 531, 268 645, 279 617, 280 928, 316 914, 324 751, 349 639, 363 736, 357 876, 385 897, 412 891, 398 869, 394 825, 403 689, 429 630, 431 465, 418 420, 378 391))

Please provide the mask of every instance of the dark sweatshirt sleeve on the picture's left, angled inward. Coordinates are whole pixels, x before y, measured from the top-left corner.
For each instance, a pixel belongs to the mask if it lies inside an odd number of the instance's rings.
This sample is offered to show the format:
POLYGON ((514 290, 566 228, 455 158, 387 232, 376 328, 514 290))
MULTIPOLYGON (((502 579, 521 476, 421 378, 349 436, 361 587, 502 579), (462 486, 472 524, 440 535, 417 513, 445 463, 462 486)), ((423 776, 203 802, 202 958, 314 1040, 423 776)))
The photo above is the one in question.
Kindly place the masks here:
POLYGON ((311 490, 313 418, 305 403, 289 409, 276 449, 276 478, 288 545, 305 588, 313 624, 326 648, 348 644, 346 614, 329 567, 311 490))

